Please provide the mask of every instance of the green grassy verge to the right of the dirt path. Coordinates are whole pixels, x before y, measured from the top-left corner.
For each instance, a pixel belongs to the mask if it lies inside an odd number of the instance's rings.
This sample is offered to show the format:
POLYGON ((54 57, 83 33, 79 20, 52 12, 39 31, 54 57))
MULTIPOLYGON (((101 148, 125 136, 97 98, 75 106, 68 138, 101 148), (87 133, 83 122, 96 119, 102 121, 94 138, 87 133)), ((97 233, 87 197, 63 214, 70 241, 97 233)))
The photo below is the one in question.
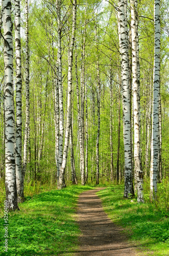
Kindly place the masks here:
POLYGON ((131 202, 123 198, 123 192, 123 185, 115 185, 97 193, 108 216, 124 228, 139 255, 169 255, 168 211, 150 202, 138 204, 136 199, 131 202))

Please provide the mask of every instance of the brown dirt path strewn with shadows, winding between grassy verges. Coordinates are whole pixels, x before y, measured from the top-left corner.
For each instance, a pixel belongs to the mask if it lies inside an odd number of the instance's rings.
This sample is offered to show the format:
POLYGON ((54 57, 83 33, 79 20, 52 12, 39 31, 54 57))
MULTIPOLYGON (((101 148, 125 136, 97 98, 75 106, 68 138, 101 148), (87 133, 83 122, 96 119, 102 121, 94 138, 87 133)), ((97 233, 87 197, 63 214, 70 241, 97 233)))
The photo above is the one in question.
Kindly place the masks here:
POLYGON ((134 256, 120 228, 115 226, 103 210, 101 200, 95 195, 104 188, 85 191, 79 197, 77 221, 82 236, 75 256, 134 256))

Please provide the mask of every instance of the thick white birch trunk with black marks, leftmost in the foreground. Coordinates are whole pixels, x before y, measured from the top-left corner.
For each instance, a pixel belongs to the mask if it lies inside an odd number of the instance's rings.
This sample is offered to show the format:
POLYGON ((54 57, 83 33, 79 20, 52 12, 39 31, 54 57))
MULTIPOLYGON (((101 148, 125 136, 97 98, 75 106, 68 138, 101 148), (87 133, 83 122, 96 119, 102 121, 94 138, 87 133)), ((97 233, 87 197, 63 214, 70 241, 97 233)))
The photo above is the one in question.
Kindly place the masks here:
POLYGON ((4 24, 4 106, 5 106, 5 188, 8 210, 18 209, 15 174, 15 113, 13 98, 13 36, 11 1, 3 1, 4 24))

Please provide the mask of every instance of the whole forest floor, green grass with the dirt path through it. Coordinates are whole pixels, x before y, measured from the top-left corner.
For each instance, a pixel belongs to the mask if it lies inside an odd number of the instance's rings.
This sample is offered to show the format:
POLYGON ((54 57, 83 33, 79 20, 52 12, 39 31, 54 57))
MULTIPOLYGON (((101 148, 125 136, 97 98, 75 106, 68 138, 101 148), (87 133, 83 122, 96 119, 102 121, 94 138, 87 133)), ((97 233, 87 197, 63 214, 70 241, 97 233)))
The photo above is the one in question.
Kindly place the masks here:
MULTIPOLYGON (((124 184, 73 185, 62 190, 49 184, 25 186, 26 201, 19 204, 19 211, 8 214, 8 253, 1 229, 0 255, 168 256, 169 182, 158 184, 158 201, 153 203, 149 183, 144 183, 144 204, 138 204, 136 196, 124 198, 124 184)), ((4 191, 0 182, 0 217, 4 191)))

